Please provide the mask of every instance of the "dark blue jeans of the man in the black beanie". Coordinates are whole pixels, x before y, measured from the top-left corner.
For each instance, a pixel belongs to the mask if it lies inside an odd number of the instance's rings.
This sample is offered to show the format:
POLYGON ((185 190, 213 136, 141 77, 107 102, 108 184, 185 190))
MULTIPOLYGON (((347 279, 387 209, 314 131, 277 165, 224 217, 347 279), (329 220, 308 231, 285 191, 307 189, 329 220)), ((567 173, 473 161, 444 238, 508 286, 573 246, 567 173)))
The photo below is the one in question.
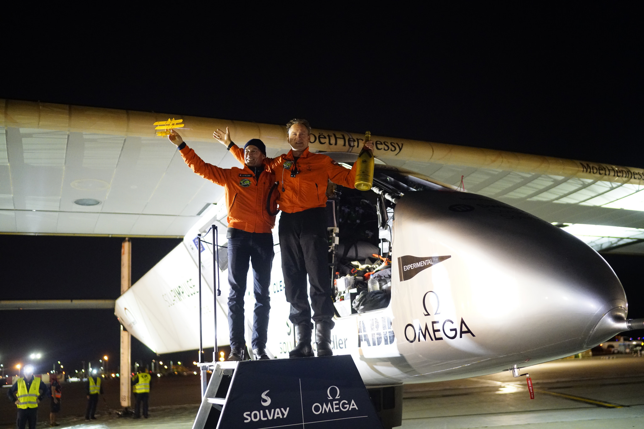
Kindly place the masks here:
POLYGON ((228 324, 231 347, 243 347, 243 297, 246 293, 249 260, 252 264, 255 309, 252 325, 252 348, 266 347, 270 310, 270 269, 273 266, 273 236, 271 233, 232 230, 228 239, 228 324))

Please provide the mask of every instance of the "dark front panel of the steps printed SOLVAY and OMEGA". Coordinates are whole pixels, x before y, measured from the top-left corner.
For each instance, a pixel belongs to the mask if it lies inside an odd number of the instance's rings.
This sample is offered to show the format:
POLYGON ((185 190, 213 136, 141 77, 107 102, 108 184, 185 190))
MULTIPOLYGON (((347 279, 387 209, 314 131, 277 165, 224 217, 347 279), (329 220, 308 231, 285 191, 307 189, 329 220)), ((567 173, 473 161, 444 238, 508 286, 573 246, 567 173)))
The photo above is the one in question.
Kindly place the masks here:
POLYGON ((217 428, 382 428, 351 356, 242 361, 217 428))

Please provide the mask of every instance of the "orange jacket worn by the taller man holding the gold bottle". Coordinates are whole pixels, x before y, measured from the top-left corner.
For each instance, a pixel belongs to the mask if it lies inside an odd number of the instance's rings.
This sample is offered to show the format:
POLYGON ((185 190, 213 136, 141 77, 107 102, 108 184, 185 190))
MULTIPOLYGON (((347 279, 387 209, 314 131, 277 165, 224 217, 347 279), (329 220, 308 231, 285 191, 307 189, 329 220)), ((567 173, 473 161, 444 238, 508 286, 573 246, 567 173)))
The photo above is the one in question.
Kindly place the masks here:
MULTIPOLYGON (((231 147, 232 155, 243 164, 243 149, 237 145, 231 147)), ((282 212, 295 213, 314 207, 327 206, 327 183, 355 188, 355 169, 346 169, 337 165, 334 160, 323 154, 314 154, 305 149, 294 162, 293 151, 264 160, 268 169, 279 181, 278 207, 282 212), (298 171, 295 177, 291 173, 298 171)))

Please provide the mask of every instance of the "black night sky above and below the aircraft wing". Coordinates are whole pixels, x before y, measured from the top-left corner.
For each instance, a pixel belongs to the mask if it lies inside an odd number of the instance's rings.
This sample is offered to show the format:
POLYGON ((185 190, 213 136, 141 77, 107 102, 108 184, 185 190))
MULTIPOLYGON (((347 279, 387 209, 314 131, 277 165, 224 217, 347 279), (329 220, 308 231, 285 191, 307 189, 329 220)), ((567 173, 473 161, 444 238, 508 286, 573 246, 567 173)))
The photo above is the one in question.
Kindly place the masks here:
MULTIPOLYGON (((387 12, 384 21, 291 10, 270 24, 187 24, 180 14, 149 28, 37 26, 5 41, 0 98, 264 123, 302 117, 317 128, 644 167, 639 4, 549 5, 458 3, 387 12)), ((117 298, 121 241, 0 235, 0 299, 117 298)), ((179 242, 132 241, 133 282, 179 242)), ((644 317, 643 259, 607 260, 629 316, 644 317)), ((64 360, 76 369, 103 354, 117 361, 113 311, 0 318, 5 367, 36 350, 47 367, 64 360), (21 331, 23 318, 39 329, 21 331)), ((196 352, 176 356, 192 361, 196 352)), ((133 360, 152 358, 133 339, 133 360)))

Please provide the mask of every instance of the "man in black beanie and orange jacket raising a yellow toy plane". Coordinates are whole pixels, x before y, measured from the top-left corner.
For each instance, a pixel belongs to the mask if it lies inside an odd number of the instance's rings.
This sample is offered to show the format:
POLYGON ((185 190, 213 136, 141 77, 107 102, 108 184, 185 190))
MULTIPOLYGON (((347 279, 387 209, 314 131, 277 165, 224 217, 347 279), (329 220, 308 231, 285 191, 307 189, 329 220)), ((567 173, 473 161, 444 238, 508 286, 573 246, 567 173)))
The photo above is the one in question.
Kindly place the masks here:
MULTIPOLYGON (((196 174, 225 189, 229 227, 228 324, 231 337, 231 354, 228 360, 244 358, 243 298, 246 293, 249 260, 252 263, 255 296, 252 351, 256 359, 269 359, 266 341, 269 329, 270 270, 275 255, 271 230, 275 226, 275 216, 267 211, 267 199, 274 175, 263 165, 266 146, 257 138, 249 140, 242 151, 243 169, 220 169, 199 158, 185 145, 176 131, 172 131, 168 138, 177 146, 185 163, 196 174)), ((275 210, 274 201, 269 208, 275 210)))

